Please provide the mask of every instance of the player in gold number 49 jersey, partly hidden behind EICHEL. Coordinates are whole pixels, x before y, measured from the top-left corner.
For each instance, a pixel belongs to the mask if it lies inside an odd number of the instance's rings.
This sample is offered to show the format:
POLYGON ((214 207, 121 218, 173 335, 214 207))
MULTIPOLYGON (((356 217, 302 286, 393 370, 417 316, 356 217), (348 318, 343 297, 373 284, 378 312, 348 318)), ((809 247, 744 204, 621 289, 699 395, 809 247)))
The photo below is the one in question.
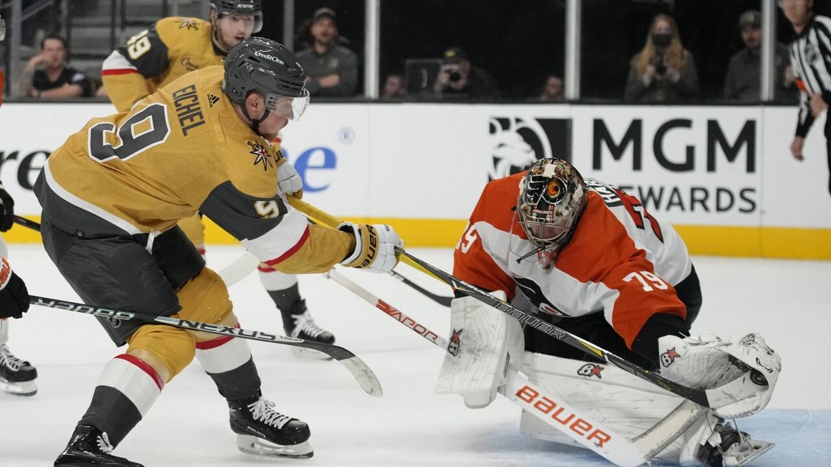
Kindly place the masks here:
MULTIPOLYGON (((263 25, 260 0, 211 2, 210 22, 193 17, 167 17, 130 38, 104 61, 101 76, 107 94, 118 111, 129 111, 135 102, 189 71, 222 65, 225 54, 239 41, 259 32, 263 25)), ((280 141, 272 145, 279 150, 280 141)), ((290 165, 281 183, 302 186, 290 165), (288 180, 288 177, 292 177, 288 180)), ((204 226, 199 214, 179 222, 184 234, 204 254, 204 226)), ((312 319, 300 295, 297 276, 258 268, 260 281, 283 317, 283 327, 292 337, 333 343, 335 337, 312 319)), ((314 352, 317 354, 317 352, 314 352)))

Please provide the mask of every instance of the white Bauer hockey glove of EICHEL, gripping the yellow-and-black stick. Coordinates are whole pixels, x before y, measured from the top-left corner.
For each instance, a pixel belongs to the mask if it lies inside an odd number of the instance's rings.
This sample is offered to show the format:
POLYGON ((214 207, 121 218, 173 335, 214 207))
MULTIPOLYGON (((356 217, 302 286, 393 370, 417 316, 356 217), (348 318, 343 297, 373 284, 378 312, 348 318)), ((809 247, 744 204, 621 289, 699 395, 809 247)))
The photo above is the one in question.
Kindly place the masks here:
POLYGON ((389 225, 343 222, 337 229, 355 235, 355 251, 341 262, 344 266, 389 273, 398 264, 396 247, 404 248, 404 242, 389 225))

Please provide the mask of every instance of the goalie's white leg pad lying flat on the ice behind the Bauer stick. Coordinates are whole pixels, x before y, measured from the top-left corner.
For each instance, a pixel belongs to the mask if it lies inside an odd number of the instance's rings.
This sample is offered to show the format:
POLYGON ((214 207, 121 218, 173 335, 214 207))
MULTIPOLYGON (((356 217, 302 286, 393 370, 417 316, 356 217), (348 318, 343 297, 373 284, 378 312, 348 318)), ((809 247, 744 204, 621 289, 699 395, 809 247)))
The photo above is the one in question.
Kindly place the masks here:
MULTIPOLYGON (((680 396, 611 365, 525 352, 523 372, 529 376, 529 381, 552 396, 568 401, 583 415, 629 439, 652 428, 683 401, 680 396)), ((553 420, 562 422, 556 417, 553 420)), ((711 437, 717 420, 712 410, 707 410, 656 455, 656 459, 674 464, 694 463, 698 447, 711 437)), ((579 445, 526 411, 523 411, 519 429, 534 438, 579 445)))

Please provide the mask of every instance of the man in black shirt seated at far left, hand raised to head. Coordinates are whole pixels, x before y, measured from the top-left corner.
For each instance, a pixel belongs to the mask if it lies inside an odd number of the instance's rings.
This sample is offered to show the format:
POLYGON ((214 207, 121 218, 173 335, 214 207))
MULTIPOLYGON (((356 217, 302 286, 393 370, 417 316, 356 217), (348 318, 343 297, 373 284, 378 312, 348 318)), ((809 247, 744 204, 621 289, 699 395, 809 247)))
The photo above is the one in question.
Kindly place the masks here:
POLYGON ((23 70, 23 96, 61 99, 92 96, 92 81, 66 65, 66 39, 50 34, 41 41, 41 52, 23 70))

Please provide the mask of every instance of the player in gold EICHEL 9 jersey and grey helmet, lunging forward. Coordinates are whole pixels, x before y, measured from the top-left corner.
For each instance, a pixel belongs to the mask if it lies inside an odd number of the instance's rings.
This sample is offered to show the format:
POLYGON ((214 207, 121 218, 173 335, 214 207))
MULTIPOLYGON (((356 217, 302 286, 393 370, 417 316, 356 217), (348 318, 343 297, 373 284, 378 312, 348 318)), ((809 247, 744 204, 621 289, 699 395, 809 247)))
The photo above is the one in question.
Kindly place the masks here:
MULTIPOLYGON (((278 188, 269 145, 308 102, 302 67, 277 42, 240 42, 221 66, 194 71, 131 111, 90 120, 38 177, 44 247, 88 303, 237 326, 228 291, 181 229, 203 212, 263 263, 320 273, 335 263, 388 272, 401 240, 387 225, 308 224, 278 188)), ((238 448, 309 457, 308 426, 262 398, 241 339, 101 320, 125 354, 101 374, 55 465, 135 463, 111 454, 194 354, 228 401, 238 448)))

